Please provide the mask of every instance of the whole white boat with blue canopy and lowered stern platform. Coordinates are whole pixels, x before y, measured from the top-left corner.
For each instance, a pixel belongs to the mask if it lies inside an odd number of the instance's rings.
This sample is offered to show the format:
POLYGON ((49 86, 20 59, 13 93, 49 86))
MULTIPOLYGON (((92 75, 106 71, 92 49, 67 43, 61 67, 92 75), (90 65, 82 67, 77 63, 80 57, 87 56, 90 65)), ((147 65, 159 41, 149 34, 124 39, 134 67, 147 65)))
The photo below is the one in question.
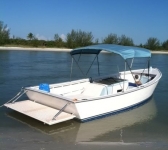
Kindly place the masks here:
POLYGON ((26 94, 28 100, 16 101, 22 95, 19 94, 5 106, 48 125, 74 118, 84 122, 143 103, 153 95, 162 77, 159 69, 150 66, 151 52, 145 48, 98 44, 73 49, 70 55, 72 56, 71 75, 74 62, 83 73, 78 63, 82 55, 94 55, 93 62, 97 60, 98 76, 25 87, 22 94, 26 94), (125 69, 115 74, 101 76, 98 56, 103 51, 120 55, 124 60, 125 69), (132 70, 136 58, 146 58, 147 67, 132 70))

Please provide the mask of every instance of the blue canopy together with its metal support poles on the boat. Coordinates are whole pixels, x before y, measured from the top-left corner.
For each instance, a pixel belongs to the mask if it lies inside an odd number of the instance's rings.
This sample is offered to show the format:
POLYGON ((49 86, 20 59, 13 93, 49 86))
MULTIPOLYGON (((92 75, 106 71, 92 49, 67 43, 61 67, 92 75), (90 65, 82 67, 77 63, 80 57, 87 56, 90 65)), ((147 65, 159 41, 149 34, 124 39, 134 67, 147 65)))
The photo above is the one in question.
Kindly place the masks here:
MULTIPOLYGON (((148 58, 148 76, 149 76, 150 57, 151 57, 150 50, 145 49, 145 48, 134 47, 134 46, 122 46, 122 45, 115 45, 115 44, 98 44, 98 45, 91 45, 91 46, 76 48, 70 52, 70 54, 72 56, 70 80, 71 80, 71 75, 72 75, 73 60, 75 60, 75 58, 73 56, 77 55, 77 54, 79 54, 78 61, 80 59, 81 54, 95 54, 96 55, 95 59, 97 58, 97 64, 98 64, 98 74, 100 75, 98 55, 102 50, 110 52, 110 53, 119 54, 125 60, 125 71, 126 71, 126 66, 128 66, 131 74, 132 74, 131 68, 132 68, 132 63, 133 63, 134 58, 141 58, 141 57, 148 58), (127 59, 132 59, 132 63, 130 66, 127 62, 127 59)), ((95 61, 95 59, 93 60, 93 62, 95 61)), ((81 70, 80 66, 78 65, 78 61, 75 60, 77 66, 81 70)), ((93 62, 92 62, 92 64, 93 64, 93 62)), ((91 64, 91 66, 92 66, 92 64, 91 64)), ((89 67, 87 73, 89 72, 91 66, 89 67)), ((124 78, 125 78, 125 71, 124 71, 124 78)), ((81 73, 84 76, 87 76, 87 73, 84 74, 82 70, 81 70, 81 73)), ((132 74, 132 76, 133 76, 133 74, 132 74)), ((134 76, 133 76, 133 78, 134 78, 134 76)), ((135 80, 135 78, 134 78, 134 80, 135 80)))

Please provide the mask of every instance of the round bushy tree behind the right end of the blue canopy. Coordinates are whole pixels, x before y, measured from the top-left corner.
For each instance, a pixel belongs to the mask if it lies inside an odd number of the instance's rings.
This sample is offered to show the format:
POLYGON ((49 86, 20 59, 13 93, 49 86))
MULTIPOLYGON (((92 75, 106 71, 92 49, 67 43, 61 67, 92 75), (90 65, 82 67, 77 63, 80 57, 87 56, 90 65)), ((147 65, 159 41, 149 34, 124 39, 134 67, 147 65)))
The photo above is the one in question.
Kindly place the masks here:
POLYGON ((151 50, 158 50, 160 48, 160 41, 157 38, 148 38, 145 47, 151 50))

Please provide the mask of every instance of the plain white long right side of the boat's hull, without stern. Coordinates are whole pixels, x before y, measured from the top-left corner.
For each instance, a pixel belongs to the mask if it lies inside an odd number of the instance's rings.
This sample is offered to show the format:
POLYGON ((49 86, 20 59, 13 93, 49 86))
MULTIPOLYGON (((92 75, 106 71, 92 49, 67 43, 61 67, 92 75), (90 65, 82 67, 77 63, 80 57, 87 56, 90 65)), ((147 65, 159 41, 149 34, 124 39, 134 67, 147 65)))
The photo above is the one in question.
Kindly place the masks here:
POLYGON ((76 103, 78 118, 84 121, 138 105, 152 96, 156 85, 157 82, 151 86, 113 97, 76 103))

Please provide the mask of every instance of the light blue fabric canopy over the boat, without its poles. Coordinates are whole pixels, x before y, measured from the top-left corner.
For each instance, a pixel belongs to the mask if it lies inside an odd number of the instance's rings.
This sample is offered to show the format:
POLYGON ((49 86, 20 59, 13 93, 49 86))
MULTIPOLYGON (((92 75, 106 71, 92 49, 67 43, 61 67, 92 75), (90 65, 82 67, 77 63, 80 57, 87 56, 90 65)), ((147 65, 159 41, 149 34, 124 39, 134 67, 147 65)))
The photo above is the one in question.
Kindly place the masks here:
POLYGON ((73 49, 70 52, 70 54, 71 55, 99 54, 102 50, 119 54, 123 59, 135 58, 135 57, 151 57, 151 52, 148 49, 134 46, 115 45, 115 44, 98 44, 98 45, 80 47, 73 49))

